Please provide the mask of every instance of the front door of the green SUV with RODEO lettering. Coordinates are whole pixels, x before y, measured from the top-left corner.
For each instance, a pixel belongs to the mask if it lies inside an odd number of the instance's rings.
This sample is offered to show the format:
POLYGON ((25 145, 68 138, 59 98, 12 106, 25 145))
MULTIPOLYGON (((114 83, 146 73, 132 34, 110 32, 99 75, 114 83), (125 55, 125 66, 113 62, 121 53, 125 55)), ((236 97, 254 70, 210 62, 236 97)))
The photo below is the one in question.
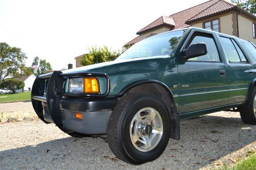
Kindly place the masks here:
POLYGON ((220 56, 214 35, 193 33, 183 51, 196 43, 205 43, 207 54, 178 64, 180 114, 228 103, 227 66, 220 56))

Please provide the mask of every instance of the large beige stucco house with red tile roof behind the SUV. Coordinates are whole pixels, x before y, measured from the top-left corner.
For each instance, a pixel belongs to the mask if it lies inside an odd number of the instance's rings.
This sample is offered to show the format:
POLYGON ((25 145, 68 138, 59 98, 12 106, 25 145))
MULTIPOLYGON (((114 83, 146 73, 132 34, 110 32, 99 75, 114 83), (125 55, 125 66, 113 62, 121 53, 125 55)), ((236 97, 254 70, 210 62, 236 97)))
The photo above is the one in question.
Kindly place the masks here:
POLYGON ((240 37, 256 44, 256 16, 224 0, 210 0, 170 16, 161 16, 136 34, 125 45, 152 35, 187 27, 211 29, 240 37))

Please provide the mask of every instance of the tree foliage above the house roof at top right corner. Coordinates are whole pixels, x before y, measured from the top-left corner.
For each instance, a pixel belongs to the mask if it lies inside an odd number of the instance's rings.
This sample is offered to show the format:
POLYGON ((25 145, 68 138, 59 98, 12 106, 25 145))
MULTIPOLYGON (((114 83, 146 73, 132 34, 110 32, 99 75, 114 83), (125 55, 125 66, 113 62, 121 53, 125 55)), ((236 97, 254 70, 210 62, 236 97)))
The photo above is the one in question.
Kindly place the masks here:
POLYGON ((256 0, 231 0, 231 3, 237 4, 238 7, 256 14, 256 0))

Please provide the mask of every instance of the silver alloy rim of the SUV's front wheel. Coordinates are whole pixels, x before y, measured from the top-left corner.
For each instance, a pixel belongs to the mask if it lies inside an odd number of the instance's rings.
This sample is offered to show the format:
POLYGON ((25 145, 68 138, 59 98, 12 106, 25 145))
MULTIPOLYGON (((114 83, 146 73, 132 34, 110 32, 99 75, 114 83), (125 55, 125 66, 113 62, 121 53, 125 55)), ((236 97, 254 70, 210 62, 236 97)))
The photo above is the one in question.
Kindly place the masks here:
POLYGON ((163 121, 157 110, 151 107, 140 109, 133 117, 130 137, 134 147, 141 152, 156 148, 163 134, 163 121))

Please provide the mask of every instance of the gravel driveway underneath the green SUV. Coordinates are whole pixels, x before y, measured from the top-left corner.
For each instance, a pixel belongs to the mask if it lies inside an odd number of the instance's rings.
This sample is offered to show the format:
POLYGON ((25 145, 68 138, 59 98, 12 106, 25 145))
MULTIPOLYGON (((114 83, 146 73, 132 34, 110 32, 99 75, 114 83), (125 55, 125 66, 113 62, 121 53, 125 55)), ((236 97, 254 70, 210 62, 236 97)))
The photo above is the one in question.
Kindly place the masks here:
POLYGON ((181 140, 169 140, 153 162, 130 165, 117 159, 105 138, 74 138, 40 120, 0 124, 0 169, 200 169, 234 163, 256 151, 256 126, 236 112, 182 120, 181 140))

